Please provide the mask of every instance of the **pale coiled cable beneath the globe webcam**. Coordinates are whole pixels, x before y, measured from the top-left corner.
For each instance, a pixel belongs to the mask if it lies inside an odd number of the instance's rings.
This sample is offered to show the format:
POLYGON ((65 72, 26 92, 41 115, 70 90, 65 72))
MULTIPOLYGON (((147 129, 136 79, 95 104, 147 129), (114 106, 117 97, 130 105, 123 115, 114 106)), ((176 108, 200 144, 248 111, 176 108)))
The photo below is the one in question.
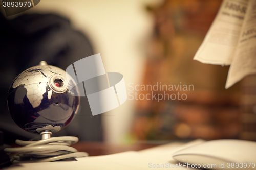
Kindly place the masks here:
POLYGON ((15 141, 20 148, 6 148, 12 163, 51 162, 66 158, 86 157, 88 153, 78 152, 71 144, 78 142, 77 137, 51 137, 39 141, 15 141))

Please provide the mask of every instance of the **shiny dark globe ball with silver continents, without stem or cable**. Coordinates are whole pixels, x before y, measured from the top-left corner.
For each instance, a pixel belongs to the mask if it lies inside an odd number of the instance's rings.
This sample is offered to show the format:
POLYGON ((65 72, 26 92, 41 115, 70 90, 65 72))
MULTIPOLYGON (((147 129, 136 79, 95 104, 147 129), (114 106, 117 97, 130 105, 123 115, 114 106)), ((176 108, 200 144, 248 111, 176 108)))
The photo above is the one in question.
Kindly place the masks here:
POLYGON ((46 62, 26 69, 8 91, 8 109, 14 122, 35 134, 65 128, 79 108, 79 91, 74 83, 66 71, 46 62))

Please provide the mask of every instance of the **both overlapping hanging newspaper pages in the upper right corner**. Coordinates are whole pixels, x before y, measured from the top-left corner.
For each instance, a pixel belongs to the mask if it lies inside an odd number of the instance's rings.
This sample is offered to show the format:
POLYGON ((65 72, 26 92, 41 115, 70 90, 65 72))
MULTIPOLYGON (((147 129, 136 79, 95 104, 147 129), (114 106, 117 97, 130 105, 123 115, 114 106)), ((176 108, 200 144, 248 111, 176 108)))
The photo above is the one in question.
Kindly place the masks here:
POLYGON ((256 73, 256 0, 224 0, 194 60, 230 65, 225 88, 256 73))

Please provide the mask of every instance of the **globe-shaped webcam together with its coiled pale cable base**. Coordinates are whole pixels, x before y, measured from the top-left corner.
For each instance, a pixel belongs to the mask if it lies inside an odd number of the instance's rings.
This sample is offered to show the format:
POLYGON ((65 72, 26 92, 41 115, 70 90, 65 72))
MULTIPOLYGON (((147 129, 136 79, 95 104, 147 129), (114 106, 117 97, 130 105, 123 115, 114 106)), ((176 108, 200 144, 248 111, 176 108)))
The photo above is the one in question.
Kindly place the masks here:
POLYGON ((67 145, 78 141, 77 137, 51 138, 52 133, 65 128, 78 111, 79 90, 74 87, 74 83, 74 79, 66 71, 47 65, 45 61, 41 61, 38 66, 28 68, 16 77, 8 91, 9 112, 20 128, 40 134, 42 140, 35 142, 16 140, 17 144, 26 145, 26 149, 5 149, 10 153, 13 163, 21 160, 55 161, 88 155, 77 152, 74 148, 67 148, 67 145))

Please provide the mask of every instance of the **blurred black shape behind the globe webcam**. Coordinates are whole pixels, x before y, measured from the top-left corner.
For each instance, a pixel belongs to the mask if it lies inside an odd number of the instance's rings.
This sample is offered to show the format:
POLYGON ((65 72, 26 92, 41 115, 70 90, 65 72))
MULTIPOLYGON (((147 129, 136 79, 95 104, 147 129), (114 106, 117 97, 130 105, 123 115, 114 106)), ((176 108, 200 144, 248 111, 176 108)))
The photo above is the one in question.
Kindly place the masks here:
MULTIPOLYGON (((74 30, 66 18, 25 14, 6 20, 0 15, 0 130, 4 131, 5 141, 35 137, 16 126, 8 113, 7 92, 16 76, 42 60, 65 70, 73 62, 93 54, 89 39, 74 30)), ((101 116, 92 116, 87 98, 82 97, 78 115, 55 135, 101 141, 101 116)))

